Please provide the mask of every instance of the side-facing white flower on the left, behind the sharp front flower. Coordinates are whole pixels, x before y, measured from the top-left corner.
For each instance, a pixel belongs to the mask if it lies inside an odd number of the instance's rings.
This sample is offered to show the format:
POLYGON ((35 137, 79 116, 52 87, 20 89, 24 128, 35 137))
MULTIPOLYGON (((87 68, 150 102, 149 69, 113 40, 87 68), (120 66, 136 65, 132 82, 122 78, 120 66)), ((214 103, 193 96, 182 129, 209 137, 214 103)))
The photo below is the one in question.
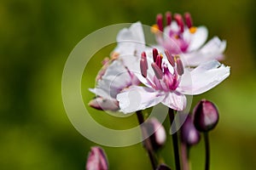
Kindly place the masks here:
POLYGON ((118 46, 113 50, 111 59, 102 61, 102 70, 96 77, 96 88, 90 88, 90 92, 96 94, 96 98, 90 100, 91 107, 97 110, 118 111, 117 94, 131 85, 140 83, 126 64, 135 62, 137 58, 134 56, 145 50, 142 32, 143 27, 139 22, 131 25, 129 29, 119 31, 118 46))

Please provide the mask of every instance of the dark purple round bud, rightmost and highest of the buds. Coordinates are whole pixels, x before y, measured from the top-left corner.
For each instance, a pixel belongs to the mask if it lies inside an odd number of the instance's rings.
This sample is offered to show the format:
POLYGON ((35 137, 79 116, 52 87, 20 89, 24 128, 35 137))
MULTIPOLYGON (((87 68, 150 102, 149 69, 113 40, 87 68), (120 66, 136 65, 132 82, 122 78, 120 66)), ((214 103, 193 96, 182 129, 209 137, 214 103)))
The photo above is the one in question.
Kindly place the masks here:
POLYGON ((201 101, 195 106, 193 111, 194 125, 200 132, 208 132, 216 127, 218 123, 218 109, 207 99, 201 101))

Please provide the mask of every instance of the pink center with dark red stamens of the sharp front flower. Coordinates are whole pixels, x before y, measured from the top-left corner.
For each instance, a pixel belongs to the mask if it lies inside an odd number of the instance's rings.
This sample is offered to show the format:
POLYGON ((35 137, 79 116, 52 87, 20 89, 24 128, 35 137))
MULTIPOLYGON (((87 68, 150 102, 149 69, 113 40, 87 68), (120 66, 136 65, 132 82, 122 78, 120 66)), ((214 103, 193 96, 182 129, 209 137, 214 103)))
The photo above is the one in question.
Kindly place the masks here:
POLYGON ((152 88, 169 92, 176 90, 178 87, 180 78, 183 75, 183 63, 178 56, 172 56, 167 50, 165 51, 165 54, 169 64, 172 65, 173 71, 170 71, 168 64, 163 62, 163 55, 159 54, 156 48, 153 48, 154 62, 151 64, 154 71, 153 80, 150 80, 147 77, 148 62, 145 52, 143 52, 141 57, 140 68, 143 77, 146 78, 152 88))

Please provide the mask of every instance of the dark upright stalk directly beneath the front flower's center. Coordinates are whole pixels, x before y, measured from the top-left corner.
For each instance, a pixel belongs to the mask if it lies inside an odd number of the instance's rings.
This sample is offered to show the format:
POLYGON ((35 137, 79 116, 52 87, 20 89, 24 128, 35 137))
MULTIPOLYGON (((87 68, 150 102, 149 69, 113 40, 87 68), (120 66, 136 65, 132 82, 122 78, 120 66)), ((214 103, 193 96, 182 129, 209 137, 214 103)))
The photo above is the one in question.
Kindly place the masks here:
MULTIPOLYGON (((172 126, 172 123, 174 123, 174 111, 173 109, 169 108, 169 119, 172 126)), ((173 125, 175 127, 175 125, 173 125)), ((177 133, 172 134, 172 145, 173 145, 173 151, 174 151, 174 157, 175 157, 175 166, 177 170, 180 170, 180 161, 179 161, 179 151, 178 151, 178 139, 177 139, 177 133)))

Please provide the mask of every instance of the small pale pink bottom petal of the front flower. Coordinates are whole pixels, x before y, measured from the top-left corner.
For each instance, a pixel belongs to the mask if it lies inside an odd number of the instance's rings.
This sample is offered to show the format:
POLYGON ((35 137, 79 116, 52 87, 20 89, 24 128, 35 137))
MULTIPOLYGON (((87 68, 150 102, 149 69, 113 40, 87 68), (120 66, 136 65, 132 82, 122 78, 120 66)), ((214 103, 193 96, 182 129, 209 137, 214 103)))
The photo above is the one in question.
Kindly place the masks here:
POLYGON ((166 98, 162 101, 162 104, 172 108, 173 110, 183 111, 186 108, 187 99, 183 94, 170 92, 166 95, 166 98))

